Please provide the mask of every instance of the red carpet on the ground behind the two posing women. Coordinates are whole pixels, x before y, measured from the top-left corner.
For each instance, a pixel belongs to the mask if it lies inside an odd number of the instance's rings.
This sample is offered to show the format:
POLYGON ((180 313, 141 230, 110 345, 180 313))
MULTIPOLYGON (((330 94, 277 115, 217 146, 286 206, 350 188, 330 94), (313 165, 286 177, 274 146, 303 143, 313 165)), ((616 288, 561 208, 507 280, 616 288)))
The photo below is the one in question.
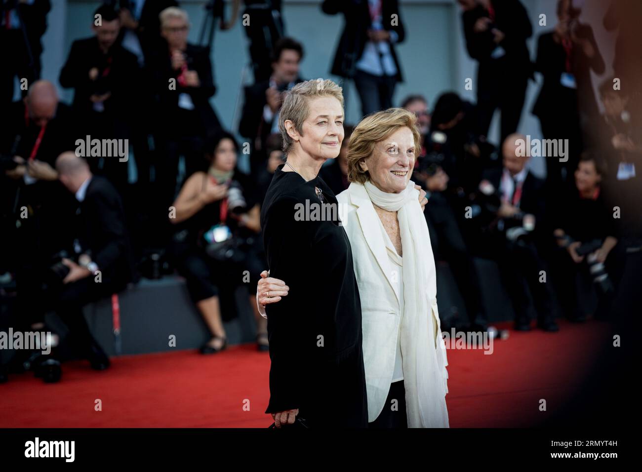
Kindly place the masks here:
MULTIPOLYGON (((491 355, 450 349, 451 427, 536 426, 572 398, 598 344, 611 339, 607 324, 560 322, 559 333, 510 331, 491 355), (539 411, 540 399, 548 411, 539 411)), ((213 356, 122 356, 103 372, 69 362, 60 383, 28 373, 0 385, 0 427, 266 427, 269 367, 268 354, 254 344, 213 356)))

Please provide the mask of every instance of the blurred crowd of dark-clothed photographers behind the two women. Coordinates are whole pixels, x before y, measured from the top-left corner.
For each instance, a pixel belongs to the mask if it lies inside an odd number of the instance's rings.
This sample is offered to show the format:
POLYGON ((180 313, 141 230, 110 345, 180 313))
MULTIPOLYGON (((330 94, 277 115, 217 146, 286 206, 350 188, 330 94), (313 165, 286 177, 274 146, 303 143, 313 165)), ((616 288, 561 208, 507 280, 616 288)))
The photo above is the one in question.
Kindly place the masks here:
MULTIPOLYGON (((617 34, 614 76, 605 77, 605 46, 571 0, 557 3, 555 26, 537 37, 534 58, 526 41, 535 22, 519 0, 458 3, 477 63, 475 103, 456 91, 433 104, 422 91, 394 103, 403 81, 395 46, 405 37, 397 0, 322 2, 322 12, 345 18, 329 72, 354 82, 361 114, 399 106, 417 116, 424 142, 412 180, 428 193, 435 259, 447 262, 467 314, 442 320, 442 328, 489 328, 478 258, 498 265, 516 329, 531 329, 532 313, 545 331, 557 331, 559 317, 631 314, 642 284, 641 4, 613 0, 603 18, 617 34), (597 94, 591 73, 600 77, 597 94), (524 110, 526 87, 539 77, 535 105, 524 110), (496 111, 493 143, 487 134, 496 111), (556 144, 544 159, 545 179, 530 170, 530 135, 517 134, 524 111, 556 144)), ((231 5, 227 21, 222 2, 207 14, 231 28, 240 2, 231 5)), ((107 1, 78 19, 92 24, 93 35, 73 42, 60 70, 71 104, 39 80, 49 0, 2 8, 0 42, 11 46, 0 73, 0 284, 3 299, 15 295, 15 326, 30 331, 56 311, 76 355, 105 369, 108 357, 83 306, 141 277, 178 272, 211 332, 202 353, 225 349, 223 321, 236 316, 238 286, 248 290, 257 348, 267 350, 255 302, 267 268, 259 214, 285 159, 283 93, 305 80, 304 39, 284 35, 281 2, 245 1, 254 83, 245 87, 238 130, 218 119, 210 99, 225 91, 215 85, 211 45, 187 41, 191 22, 178 2, 107 1), (16 78, 28 85, 12 101, 16 78), (249 155, 249 172, 239 168, 241 154, 249 155)), ((321 170, 336 194, 349 185, 351 130, 345 125, 339 157, 321 170)), ((21 369, 29 355, 8 369, 21 369)), ((60 378, 56 358, 36 369, 48 381, 60 378)))

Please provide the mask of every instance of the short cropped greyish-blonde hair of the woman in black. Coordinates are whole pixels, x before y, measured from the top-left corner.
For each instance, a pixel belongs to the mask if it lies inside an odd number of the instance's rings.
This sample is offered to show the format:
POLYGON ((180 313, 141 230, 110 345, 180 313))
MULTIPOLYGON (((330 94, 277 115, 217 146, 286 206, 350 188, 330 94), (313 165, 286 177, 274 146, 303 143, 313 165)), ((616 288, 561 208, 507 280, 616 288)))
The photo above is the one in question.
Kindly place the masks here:
POLYGON ((283 105, 279 110, 279 131, 281 131, 281 137, 283 138, 283 152, 288 153, 294 145, 294 141, 283 123, 286 119, 289 119, 294 124, 295 130, 302 135, 303 122, 306 121, 310 112, 309 100, 324 96, 336 98, 341 103, 341 109, 343 110, 342 88, 329 79, 306 80, 305 82, 297 83, 286 92, 283 105))

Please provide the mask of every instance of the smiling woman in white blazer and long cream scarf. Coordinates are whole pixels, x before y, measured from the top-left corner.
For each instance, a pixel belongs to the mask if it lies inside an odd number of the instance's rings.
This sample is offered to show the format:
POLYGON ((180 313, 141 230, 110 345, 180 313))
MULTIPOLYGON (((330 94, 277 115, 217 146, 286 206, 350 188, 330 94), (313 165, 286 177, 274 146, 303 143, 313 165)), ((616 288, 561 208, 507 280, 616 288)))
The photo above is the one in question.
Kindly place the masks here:
MULTIPOLYGON (((449 426, 435 261, 410 180, 419 150, 411 112, 388 109, 367 116, 351 137, 351 184, 337 195, 360 292, 372 427, 449 426)), ((259 303, 274 302, 264 294, 275 284, 283 290, 281 282, 262 279, 259 303)))

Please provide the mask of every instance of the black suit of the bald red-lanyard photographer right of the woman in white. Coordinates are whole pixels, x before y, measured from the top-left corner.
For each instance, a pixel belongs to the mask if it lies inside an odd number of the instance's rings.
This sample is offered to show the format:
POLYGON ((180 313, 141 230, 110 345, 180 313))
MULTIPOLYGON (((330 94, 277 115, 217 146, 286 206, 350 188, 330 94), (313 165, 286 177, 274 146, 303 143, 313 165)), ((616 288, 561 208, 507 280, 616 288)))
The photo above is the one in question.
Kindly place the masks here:
MULTIPOLYGON (((498 189, 501 182, 503 169, 492 169, 483 174, 483 178, 498 189)), ((514 195, 514 193, 513 193, 514 195)), ((482 197, 484 207, 499 206, 499 193, 491 197, 482 197)), ((550 225, 547 224, 546 206, 544 200, 544 181, 528 172, 521 189, 521 198, 517 206, 523 213, 535 216, 535 229, 531 234, 517 240, 509 240, 507 231, 510 228, 521 226, 521 220, 516 218, 498 218, 496 213, 490 211, 487 220, 492 220, 487 233, 486 246, 491 258, 499 266, 501 278, 507 289, 516 315, 517 325, 528 323, 528 293, 526 284, 530 288, 532 299, 537 310, 539 324, 546 324, 554 319, 552 313, 552 293, 548 283, 539 281, 541 271, 546 271, 541 250, 550 238, 550 225)), ((489 210, 487 210, 489 211, 489 210)))

